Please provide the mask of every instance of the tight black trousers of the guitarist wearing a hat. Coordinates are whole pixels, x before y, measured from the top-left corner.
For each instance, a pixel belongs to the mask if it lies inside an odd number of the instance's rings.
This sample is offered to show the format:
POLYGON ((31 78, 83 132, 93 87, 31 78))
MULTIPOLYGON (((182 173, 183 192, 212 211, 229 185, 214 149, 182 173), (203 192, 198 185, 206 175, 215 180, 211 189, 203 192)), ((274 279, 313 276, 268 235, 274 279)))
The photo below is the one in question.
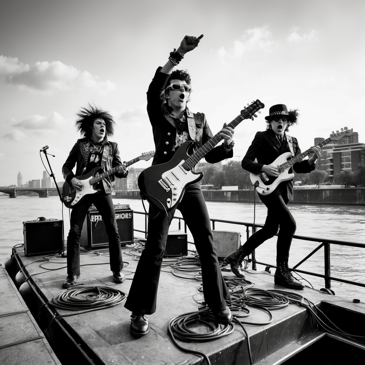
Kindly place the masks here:
POLYGON ((280 225, 276 243, 276 261, 288 262, 290 245, 296 230, 296 223, 288 208, 286 186, 281 189, 279 185, 270 195, 260 195, 260 199, 268 208, 268 215, 264 227, 247 239, 243 245, 243 250, 247 255, 250 254, 261 243, 274 237, 280 225))

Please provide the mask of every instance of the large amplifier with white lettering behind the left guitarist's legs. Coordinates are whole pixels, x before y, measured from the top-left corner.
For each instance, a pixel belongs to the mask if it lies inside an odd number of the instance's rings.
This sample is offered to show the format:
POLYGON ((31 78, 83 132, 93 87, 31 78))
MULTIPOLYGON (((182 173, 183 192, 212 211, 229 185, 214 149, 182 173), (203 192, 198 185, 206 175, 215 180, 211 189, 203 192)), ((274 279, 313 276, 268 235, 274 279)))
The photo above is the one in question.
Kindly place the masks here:
MULTIPOLYGON (((133 243, 133 211, 130 205, 114 204, 114 209, 121 246, 133 243)), ((89 249, 109 246, 104 221, 93 204, 82 226, 80 245, 87 246, 89 249)))

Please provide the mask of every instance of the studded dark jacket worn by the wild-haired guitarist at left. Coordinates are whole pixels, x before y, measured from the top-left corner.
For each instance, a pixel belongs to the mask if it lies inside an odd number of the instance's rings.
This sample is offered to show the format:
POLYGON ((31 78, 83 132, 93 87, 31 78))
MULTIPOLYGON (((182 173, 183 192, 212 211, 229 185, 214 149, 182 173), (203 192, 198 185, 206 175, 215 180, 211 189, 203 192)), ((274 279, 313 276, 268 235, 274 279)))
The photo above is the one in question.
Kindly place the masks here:
MULTIPOLYGON (((72 169, 74 168, 76 164, 76 176, 82 175, 86 170, 86 165, 89 157, 89 139, 88 138, 81 138, 78 139, 77 142, 72 147, 72 150, 70 151, 70 154, 62 166, 62 174, 64 175, 64 179, 66 180, 66 183, 70 184, 70 181, 73 177, 75 177, 75 174, 72 172, 72 169)), ((109 147, 109 157, 108 162, 105 166, 105 171, 110 170, 116 166, 119 166, 122 164, 122 161, 119 157, 119 149, 118 144, 115 142, 108 142, 109 147)), ((105 193, 110 194, 111 191, 111 183, 114 181, 114 175, 116 177, 126 177, 124 173, 116 172, 113 175, 108 176, 107 178, 104 178, 103 186, 105 193)))

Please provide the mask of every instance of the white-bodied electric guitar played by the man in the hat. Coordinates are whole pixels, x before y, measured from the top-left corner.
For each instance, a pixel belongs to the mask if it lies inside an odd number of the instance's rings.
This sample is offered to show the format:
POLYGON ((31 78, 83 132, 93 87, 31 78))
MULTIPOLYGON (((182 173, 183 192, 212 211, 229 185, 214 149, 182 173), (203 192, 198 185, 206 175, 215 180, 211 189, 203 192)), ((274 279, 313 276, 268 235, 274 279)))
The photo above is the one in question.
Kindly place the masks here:
MULTIPOLYGON (((321 148, 324 145, 327 145, 328 142, 331 141, 339 141, 341 138, 345 136, 350 136, 352 131, 347 127, 341 128, 341 131, 332 131, 329 138, 324 141, 318 143, 316 146, 321 148)), ((282 182, 291 180, 294 177, 294 174, 289 174, 289 169, 298 161, 302 160, 304 157, 310 154, 310 150, 304 151, 303 153, 296 155, 293 157, 291 152, 285 152, 281 154, 271 165, 277 165, 277 168, 280 172, 279 176, 268 176, 264 172, 260 172, 258 174, 250 173, 250 179, 255 187, 256 191, 261 195, 269 195, 272 193, 276 187, 282 182)))

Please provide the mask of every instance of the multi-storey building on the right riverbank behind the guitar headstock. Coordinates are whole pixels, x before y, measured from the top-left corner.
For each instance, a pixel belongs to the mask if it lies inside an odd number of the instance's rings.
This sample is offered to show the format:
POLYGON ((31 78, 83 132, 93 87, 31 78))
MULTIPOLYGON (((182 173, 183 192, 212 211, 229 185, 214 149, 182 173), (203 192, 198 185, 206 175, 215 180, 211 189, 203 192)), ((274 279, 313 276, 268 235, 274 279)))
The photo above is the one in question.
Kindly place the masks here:
MULTIPOLYGON (((314 144, 316 145, 324 139, 315 138, 314 144)), ((331 141, 323 146, 316 162, 316 169, 326 171, 329 181, 333 182, 334 176, 341 171, 345 169, 355 171, 359 164, 365 162, 364 150, 365 143, 359 143, 358 133, 353 132, 349 137, 343 137, 339 141, 331 141)))

